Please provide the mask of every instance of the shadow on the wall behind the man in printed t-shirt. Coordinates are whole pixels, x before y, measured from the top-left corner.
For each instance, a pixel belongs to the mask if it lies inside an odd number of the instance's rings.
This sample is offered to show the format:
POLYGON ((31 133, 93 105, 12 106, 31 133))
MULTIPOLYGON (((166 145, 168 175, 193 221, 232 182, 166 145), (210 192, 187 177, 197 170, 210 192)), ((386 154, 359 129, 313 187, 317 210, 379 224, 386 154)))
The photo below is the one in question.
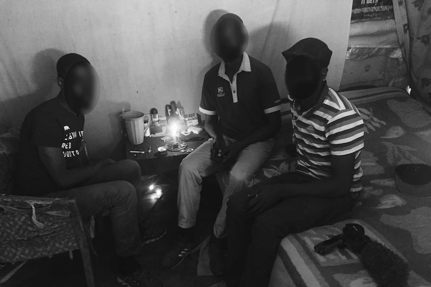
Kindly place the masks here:
MULTIPOLYGON (((20 128, 25 115, 40 103, 54 97, 58 92, 56 62, 64 52, 45 49, 34 55, 31 63, 31 81, 36 89, 24 95, 16 95, 1 102, 0 123, 7 127, 20 128)), ((15 79, 19 82, 20 79, 15 79)))

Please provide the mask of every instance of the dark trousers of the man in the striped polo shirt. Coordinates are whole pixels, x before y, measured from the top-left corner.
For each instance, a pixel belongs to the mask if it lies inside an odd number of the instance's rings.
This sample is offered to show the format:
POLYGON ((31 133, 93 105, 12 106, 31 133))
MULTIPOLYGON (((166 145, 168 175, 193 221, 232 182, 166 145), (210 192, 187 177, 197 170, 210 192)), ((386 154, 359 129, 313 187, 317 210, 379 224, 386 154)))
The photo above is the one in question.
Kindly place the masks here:
POLYGON ((246 188, 227 203, 228 287, 266 287, 281 240, 291 233, 329 225, 350 217, 353 199, 294 197, 249 219, 244 212, 247 195, 256 187, 307 183, 316 180, 299 172, 281 174, 246 188))

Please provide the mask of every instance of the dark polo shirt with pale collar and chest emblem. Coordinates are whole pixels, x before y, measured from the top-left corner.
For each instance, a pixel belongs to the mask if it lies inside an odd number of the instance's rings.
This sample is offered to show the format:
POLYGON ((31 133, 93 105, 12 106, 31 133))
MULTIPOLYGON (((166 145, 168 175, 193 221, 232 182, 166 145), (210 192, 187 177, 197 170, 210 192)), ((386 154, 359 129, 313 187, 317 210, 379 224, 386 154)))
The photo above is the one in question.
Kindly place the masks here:
POLYGON ((271 69, 246 53, 232 82, 224 61, 205 74, 199 111, 218 115, 221 132, 230 138, 244 139, 266 123, 265 114, 280 108, 271 69))

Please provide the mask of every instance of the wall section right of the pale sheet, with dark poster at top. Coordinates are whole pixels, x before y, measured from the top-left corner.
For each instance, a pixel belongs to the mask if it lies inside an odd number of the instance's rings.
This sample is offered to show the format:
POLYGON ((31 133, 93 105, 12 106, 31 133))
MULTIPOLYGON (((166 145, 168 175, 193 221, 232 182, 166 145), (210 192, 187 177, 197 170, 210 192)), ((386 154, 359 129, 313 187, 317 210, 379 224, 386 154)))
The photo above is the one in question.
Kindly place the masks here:
POLYGON ((407 66, 398 41, 393 1, 353 0, 340 90, 358 86, 408 86, 407 66))

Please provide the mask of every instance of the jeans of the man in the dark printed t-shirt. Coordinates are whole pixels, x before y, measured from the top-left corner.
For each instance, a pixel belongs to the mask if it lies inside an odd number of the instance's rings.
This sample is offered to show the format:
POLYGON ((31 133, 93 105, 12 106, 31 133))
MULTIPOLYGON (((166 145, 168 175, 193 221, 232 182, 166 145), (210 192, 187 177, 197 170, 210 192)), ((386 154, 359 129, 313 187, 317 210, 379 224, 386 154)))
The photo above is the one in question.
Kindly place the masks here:
POLYGON ((48 196, 74 198, 82 217, 109 209, 116 253, 128 257, 141 249, 137 226, 143 219, 139 182, 139 165, 132 160, 121 160, 106 166, 78 187, 48 196))

